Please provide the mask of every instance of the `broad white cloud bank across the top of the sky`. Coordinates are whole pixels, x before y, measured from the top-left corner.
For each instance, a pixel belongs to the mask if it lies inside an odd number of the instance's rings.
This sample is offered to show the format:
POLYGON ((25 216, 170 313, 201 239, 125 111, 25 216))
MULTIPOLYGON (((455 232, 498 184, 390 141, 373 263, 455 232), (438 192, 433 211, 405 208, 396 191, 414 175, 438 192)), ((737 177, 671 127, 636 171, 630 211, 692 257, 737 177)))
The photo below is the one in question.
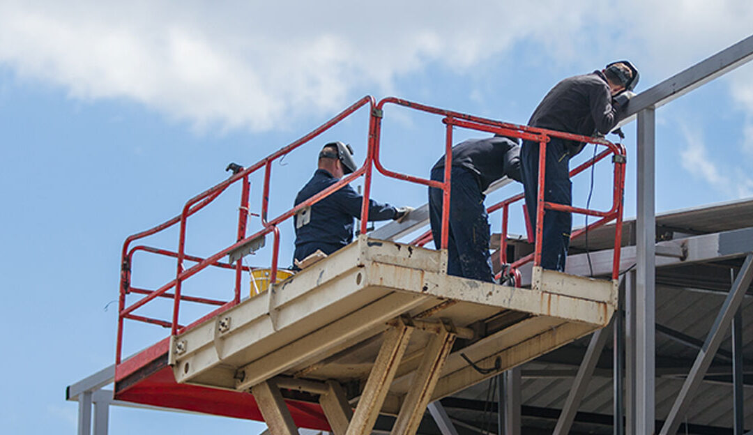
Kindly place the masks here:
MULTIPOLYGON (((747 0, 559 2, 19 2, 0 5, 0 62, 72 98, 129 99, 195 126, 264 130, 332 113, 358 89, 519 42, 542 64, 626 56, 660 80, 749 32, 747 0)), ((509 58, 515 65, 517 59, 509 58)), ((751 108, 753 113, 753 108, 751 108)))

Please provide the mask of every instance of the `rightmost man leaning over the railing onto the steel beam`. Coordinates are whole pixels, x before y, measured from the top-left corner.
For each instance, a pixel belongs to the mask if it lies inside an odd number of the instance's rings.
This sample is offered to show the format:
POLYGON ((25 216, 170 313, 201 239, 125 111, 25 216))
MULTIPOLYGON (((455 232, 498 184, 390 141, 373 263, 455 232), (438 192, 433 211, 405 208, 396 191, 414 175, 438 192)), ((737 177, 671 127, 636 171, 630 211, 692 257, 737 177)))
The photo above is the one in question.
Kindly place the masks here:
MULTIPOLYGON (((628 61, 612 62, 602 70, 566 78, 544 96, 528 121, 529 126, 577 135, 606 135, 625 115, 631 92, 638 84, 638 70, 628 61)), ((550 136, 546 148, 544 201, 572 205, 569 161, 585 144, 550 136)), ((520 151, 523 187, 531 227, 536 227, 538 148, 523 141, 520 151)), ((572 214, 546 210, 543 224, 541 266, 565 270, 570 245, 572 214)))

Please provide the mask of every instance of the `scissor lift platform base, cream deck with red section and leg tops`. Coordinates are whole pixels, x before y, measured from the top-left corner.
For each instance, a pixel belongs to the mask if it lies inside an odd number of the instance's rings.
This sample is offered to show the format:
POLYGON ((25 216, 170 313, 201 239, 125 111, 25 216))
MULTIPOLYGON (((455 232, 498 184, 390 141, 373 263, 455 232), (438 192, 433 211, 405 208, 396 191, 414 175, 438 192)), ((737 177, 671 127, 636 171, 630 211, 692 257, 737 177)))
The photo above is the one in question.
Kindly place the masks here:
POLYGON ((157 404, 163 394, 163 406, 255 419, 261 410, 272 433, 370 433, 384 412, 398 415, 393 433, 414 433, 429 401, 604 327, 617 301, 614 281, 535 268, 532 288, 515 288, 446 270, 446 251, 359 236, 124 360, 115 397, 157 404))

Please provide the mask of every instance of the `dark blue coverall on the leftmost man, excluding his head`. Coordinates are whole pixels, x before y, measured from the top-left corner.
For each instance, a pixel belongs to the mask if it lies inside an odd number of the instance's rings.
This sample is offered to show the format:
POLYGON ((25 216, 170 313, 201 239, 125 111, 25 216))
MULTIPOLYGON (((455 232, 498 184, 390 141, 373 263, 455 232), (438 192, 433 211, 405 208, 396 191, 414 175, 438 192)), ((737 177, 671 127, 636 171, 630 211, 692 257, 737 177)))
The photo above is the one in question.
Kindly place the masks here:
MULTIPOLYGON (((316 169, 314 176, 295 197, 295 205, 337 183, 325 169, 316 169)), ((353 218, 361 218, 363 196, 349 184, 311 206, 311 220, 295 229, 294 260, 303 260, 321 249, 332 254, 353 240, 353 218)), ((389 204, 369 200, 369 221, 386 221, 395 218, 397 210, 389 204)))

